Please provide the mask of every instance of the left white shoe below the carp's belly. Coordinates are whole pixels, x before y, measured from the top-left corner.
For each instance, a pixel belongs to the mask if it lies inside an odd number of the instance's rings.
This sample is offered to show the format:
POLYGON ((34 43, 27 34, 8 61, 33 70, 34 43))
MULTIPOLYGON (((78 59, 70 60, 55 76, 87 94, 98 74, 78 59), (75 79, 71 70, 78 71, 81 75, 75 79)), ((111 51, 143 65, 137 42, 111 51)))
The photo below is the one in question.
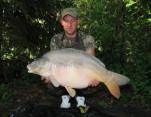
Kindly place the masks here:
POLYGON ((69 95, 63 95, 61 96, 62 98, 62 102, 61 102, 61 105, 60 105, 60 108, 70 108, 71 107, 71 104, 69 102, 70 100, 70 96, 69 95))

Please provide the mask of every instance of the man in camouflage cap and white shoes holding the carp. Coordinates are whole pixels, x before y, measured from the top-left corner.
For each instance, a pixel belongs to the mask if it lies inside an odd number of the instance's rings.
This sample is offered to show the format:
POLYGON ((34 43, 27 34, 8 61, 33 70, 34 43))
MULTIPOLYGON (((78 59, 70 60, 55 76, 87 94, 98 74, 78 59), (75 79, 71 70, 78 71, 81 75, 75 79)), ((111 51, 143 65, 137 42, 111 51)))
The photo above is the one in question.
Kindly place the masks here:
MULTIPOLYGON (((50 48, 51 50, 62 48, 75 48, 85 51, 90 55, 95 55, 95 41, 91 35, 78 30, 80 19, 76 8, 66 8, 61 12, 60 23, 64 29, 63 33, 56 34, 52 37, 50 48)), ((47 80, 47 78, 42 78, 47 80)), ((98 81, 92 81, 90 86, 97 86, 98 81)), ((78 92, 80 92, 78 90, 78 92)), ((78 93, 77 93, 78 95, 78 93)), ((82 95, 79 93, 79 95, 82 95)), ((85 97, 76 96, 77 107, 86 106, 85 97)), ((68 94, 62 96, 61 108, 70 108, 70 96, 68 94)))

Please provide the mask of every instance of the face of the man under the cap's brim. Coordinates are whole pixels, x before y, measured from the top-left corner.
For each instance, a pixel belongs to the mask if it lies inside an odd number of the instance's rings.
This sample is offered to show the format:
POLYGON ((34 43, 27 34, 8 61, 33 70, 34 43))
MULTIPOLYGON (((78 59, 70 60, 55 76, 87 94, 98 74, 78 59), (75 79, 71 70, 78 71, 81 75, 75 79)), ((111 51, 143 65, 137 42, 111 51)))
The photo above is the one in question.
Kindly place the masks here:
POLYGON ((68 35, 75 34, 78 24, 79 20, 70 15, 66 15, 61 19, 61 25, 63 26, 65 33, 67 33, 68 35))

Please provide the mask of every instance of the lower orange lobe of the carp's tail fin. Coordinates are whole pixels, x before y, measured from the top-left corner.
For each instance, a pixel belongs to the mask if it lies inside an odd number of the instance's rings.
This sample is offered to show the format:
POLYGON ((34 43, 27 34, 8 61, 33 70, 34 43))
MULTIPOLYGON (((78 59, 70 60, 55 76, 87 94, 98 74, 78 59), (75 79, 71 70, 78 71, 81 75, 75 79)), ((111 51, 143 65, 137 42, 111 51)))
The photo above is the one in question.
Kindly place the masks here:
POLYGON ((104 82, 104 84, 107 86, 108 90, 114 97, 116 97, 117 99, 120 97, 120 88, 118 83, 114 79, 110 77, 107 82, 104 82))

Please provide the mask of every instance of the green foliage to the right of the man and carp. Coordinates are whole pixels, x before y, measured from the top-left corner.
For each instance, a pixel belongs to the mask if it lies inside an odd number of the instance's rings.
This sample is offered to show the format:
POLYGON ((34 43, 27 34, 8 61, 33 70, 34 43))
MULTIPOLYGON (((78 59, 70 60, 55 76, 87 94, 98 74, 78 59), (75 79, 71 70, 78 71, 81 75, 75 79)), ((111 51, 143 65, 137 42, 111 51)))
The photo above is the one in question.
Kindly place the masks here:
POLYGON ((77 0, 75 4, 82 10, 81 28, 96 39, 97 56, 108 69, 131 79, 133 90, 121 100, 127 105, 133 102, 133 105, 149 107, 151 3, 141 0, 77 0))

